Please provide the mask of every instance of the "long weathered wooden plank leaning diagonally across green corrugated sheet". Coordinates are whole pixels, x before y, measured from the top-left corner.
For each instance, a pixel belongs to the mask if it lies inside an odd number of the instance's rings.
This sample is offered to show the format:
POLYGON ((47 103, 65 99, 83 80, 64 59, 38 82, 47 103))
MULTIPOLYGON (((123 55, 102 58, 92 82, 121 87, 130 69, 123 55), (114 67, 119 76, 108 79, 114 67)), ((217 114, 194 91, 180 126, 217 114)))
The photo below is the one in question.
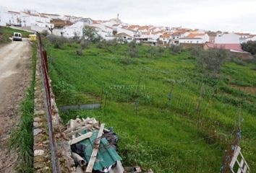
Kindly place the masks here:
POLYGON ((101 136, 103 135, 103 130, 104 130, 104 124, 101 124, 101 128, 100 128, 100 130, 98 130, 98 136, 95 139, 94 146, 93 146, 93 152, 90 156, 90 161, 88 163, 88 167, 86 168, 85 172, 93 172, 93 166, 94 166, 97 154, 98 154, 98 148, 101 143, 101 136))

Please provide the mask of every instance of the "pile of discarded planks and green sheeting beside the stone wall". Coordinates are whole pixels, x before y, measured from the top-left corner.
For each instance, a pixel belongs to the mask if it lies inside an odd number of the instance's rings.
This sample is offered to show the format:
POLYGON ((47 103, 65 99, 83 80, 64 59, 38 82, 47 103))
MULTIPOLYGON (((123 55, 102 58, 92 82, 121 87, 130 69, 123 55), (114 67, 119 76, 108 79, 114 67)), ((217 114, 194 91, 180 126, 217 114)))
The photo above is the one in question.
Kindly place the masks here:
MULTIPOLYGON (((67 126, 64 135, 69 140, 76 172, 142 172, 137 166, 122 167, 117 153, 119 138, 113 128, 106 129, 104 124, 89 117, 69 120, 67 126)), ((148 172, 153 173, 151 169, 148 172)))

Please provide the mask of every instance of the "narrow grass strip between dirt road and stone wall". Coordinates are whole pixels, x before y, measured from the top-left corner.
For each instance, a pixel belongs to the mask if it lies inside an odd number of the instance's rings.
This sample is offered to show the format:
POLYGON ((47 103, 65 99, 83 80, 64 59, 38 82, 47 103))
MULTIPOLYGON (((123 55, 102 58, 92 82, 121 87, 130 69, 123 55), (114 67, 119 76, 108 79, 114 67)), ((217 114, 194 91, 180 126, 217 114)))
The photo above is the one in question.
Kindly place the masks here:
POLYGON ((33 115, 34 115, 34 88, 35 66, 37 55, 36 43, 33 44, 32 81, 27 94, 20 104, 20 123, 12 132, 9 141, 10 148, 15 149, 18 155, 17 172, 33 172, 33 115))

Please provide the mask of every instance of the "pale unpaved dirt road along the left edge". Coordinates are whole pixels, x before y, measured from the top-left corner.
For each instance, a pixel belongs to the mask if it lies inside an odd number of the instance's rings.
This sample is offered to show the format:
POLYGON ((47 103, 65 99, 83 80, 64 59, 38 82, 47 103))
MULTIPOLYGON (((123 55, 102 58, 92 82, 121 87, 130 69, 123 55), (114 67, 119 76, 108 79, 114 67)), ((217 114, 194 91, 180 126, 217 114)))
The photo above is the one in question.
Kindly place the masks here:
POLYGON ((17 109, 30 83, 31 56, 27 39, 0 47, 0 172, 14 172, 17 161, 7 142, 20 120, 17 109))

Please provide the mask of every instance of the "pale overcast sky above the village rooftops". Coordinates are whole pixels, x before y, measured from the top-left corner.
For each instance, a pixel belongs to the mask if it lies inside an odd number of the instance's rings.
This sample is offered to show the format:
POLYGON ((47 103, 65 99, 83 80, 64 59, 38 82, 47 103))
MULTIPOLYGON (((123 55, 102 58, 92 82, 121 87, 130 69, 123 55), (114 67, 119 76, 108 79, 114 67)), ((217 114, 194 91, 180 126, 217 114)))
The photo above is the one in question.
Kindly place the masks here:
POLYGON ((0 0, 0 6, 129 24, 256 34, 256 0, 0 0))

